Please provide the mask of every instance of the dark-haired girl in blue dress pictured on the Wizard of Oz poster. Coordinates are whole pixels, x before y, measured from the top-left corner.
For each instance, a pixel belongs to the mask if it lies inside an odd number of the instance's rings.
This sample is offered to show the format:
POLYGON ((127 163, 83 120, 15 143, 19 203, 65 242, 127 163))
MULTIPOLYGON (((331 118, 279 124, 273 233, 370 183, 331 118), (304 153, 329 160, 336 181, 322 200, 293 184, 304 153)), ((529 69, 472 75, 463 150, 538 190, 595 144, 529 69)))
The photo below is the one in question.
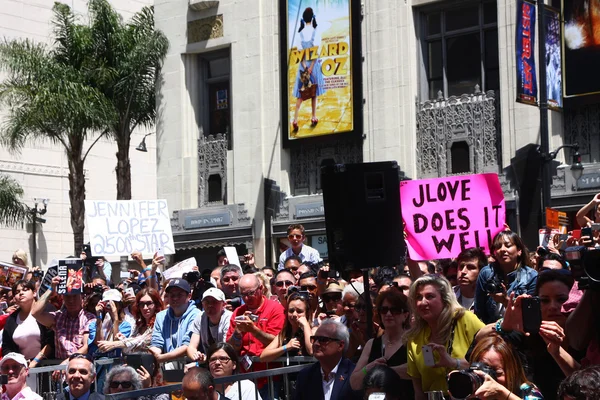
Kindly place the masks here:
MULTIPOLYGON (((315 47, 317 20, 311 7, 307 7, 302 13, 298 33, 300 34, 300 45, 302 46, 302 49, 315 47)), ((321 70, 321 60, 319 58, 307 60, 306 57, 303 57, 298 66, 296 84, 294 85, 294 97, 297 98, 296 111, 294 113, 294 120, 292 121, 294 132, 298 131, 298 111, 300 110, 300 106, 302 105, 302 102, 308 98, 310 98, 312 102, 312 117, 310 122, 312 126, 317 125, 319 122, 317 118, 317 97, 323 94, 325 94, 325 80, 323 79, 323 72, 321 70), (305 91, 306 94, 303 93, 305 91), (307 97, 307 94, 310 97, 307 97)))

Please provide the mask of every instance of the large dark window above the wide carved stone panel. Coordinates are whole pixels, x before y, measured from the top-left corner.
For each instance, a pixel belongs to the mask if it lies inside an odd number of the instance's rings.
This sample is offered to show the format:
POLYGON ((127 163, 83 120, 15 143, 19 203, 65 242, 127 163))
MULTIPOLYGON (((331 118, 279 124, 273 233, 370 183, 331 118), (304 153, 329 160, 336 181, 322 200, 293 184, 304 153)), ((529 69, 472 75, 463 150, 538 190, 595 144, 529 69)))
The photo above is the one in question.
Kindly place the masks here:
POLYGON ((422 13, 425 87, 436 99, 500 88, 495 1, 439 8, 422 13))

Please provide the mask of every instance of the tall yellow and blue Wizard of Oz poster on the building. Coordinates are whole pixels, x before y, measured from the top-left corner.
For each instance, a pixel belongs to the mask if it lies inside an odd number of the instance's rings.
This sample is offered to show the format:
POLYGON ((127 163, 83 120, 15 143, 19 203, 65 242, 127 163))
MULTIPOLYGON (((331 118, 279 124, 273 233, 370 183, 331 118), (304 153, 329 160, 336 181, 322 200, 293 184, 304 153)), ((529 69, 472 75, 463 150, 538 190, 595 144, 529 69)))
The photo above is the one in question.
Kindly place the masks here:
POLYGON ((287 82, 282 85, 287 139, 353 131, 351 0, 282 1, 287 6, 286 16, 282 13, 287 19, 287 82))

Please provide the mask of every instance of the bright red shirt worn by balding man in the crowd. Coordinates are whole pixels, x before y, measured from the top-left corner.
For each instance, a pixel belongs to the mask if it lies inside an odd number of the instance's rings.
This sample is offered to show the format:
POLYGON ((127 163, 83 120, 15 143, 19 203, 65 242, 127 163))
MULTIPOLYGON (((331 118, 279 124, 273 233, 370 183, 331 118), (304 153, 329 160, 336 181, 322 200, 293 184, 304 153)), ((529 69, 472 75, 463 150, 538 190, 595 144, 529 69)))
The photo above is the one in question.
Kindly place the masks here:
MULTIPOLYGON (((285 323, 285 311, 278 302, 269 300, 264 296, 263 300, 263 305, 254 312, 254 314, 258 315, 258 320, 254 324, 261 331, 277 336, 283 329, 283 324, 285 323)), ((248 306, 243 304, 236 308, 231 315, 229 330, 227 331, 227 340, 229 340, 235 332, 235 317, 244 315, 246 311, 248 311, 248 306)), ((248 354, 248 356, 260 356, 265 347, 266 346, 251 333, 242 333, 242 346, 240 348, 241 356, 246 354, 248 354)))

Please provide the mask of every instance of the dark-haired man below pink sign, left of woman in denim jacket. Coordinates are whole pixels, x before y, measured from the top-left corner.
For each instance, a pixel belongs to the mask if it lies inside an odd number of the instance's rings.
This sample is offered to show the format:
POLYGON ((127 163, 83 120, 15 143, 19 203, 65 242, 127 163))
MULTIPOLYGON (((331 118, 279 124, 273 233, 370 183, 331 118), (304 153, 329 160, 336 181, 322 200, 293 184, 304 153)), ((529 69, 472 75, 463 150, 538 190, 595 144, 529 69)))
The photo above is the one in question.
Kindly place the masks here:
POLYGON ((458 263, 458 285, 454 286, 454 294, 460 305, 473 311, 477 277, 481 268, 487 265, 487 257, 482 250, 472 247, 461 251, 456 262, 458 263))

